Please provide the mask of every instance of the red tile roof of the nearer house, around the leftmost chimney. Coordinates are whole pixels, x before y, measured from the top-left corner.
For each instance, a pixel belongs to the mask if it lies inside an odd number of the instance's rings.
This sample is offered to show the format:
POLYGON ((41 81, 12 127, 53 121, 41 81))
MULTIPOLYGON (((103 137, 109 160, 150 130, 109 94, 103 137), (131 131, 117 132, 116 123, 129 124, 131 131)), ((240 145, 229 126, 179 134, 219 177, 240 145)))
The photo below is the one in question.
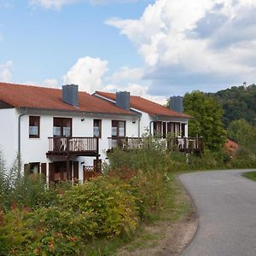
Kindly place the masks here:
POLYGON ((62 102, 62 90, 25 84, 0 83, 0 100, 15 108, 135 115, 86 92, 79 92, 79 108, 62 102))

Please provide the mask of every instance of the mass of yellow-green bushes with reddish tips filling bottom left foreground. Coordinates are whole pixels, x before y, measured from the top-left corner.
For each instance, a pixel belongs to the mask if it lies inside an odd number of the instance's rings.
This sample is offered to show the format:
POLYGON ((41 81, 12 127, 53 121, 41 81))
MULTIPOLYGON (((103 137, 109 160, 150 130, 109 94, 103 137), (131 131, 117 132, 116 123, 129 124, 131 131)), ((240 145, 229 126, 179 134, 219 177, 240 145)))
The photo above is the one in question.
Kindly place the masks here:
POLYGON ((137 214, 129 183, 97 177, 55 195, 55 206, 13 206, 6 214, 1 212, 0 251, 3 255, 79 255, 93 237, 131 234, 137 228, 137 214))

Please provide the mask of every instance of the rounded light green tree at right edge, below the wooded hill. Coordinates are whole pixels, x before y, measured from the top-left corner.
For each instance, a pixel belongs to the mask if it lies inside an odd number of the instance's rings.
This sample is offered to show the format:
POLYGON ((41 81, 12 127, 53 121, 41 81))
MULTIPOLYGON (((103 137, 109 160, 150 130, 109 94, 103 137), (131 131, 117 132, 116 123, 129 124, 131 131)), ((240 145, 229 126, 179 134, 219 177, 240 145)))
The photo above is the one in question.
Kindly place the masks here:
POLYGON ((228 137, 241 145, 255 142, 256 130, 245 119, 234 120, 228 128, 228 137))

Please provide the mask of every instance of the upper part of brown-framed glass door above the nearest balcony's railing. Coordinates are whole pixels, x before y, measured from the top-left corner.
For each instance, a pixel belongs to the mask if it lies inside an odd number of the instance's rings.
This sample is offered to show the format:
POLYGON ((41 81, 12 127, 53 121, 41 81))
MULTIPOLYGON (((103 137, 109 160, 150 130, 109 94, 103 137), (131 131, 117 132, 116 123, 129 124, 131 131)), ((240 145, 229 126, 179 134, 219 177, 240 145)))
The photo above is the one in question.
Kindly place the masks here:
POLYGON ((54 118, 54 137, 72 137, 72 119, 54 118))

